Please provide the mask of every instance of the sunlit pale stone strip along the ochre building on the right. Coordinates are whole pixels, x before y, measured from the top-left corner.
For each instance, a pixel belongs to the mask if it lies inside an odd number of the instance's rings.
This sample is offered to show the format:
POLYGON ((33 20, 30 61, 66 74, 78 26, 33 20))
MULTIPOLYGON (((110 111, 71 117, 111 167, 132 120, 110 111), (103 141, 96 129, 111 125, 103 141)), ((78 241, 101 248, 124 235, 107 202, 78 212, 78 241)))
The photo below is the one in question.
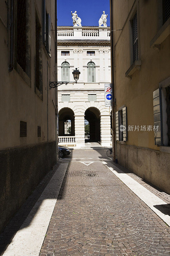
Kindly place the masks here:
POLYGON ((155 196, 151 191, 147 188, 144 188, 141 184, 139 184, 136 180, 132 179, 125 172, 121 171, 119 168, 114 166, 114 168, 107 166, 105 161, 102 162, 105 166, 113 172, 122 182, 130 188, 146 205, 148 205, 153 212, 155 212, 163 221, 166 222, 168 226, 170 226, 170 216, 165 215, 160 212, 158 209, 154 207, 154 205, 166 204, 163 200, 161 200, 158 196, 155 196))

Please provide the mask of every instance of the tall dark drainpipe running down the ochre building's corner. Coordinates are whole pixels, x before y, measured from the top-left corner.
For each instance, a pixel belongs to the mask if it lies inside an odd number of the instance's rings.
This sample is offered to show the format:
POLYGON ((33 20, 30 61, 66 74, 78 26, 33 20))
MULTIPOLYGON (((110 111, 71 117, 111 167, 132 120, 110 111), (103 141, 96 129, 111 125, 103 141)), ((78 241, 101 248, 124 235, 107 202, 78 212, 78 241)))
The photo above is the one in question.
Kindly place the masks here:
POLYGON ((112 107, 112 127, 113 127, 113 161, 115 161, 115 84, 114 84, 114 36, 113 36, 113 0, 110 0, 110 43, 111 43, 111 77, 113 85, 113 107, 112 107))

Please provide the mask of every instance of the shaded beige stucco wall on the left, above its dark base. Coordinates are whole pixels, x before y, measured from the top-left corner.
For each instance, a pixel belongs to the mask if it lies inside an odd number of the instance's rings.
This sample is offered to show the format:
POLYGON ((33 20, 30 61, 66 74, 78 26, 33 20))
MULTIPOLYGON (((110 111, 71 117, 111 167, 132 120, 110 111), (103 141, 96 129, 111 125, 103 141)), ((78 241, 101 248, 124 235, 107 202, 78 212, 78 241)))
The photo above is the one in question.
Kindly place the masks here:
MULTIPOLYGON (((45 47, 42 45, 43 100, 34 92, 35 9, 37 9, 42 26, 42 1, 30 1, 31 86, 23 80, 15 69, 11 73, 8 72, 10 42, 9 31, 5 27, 7 26, 7 7, 5 1, 2 2, 0 8, 0 17, 2 18, 0 20, 0 148, 46 142, 47 137, 48 141, 55 141, 55 108, 52 102, 52 99, 55 102, 55 89, 49 90, 49 80, 55 80, 55 41, 52 31, 51 52, 53 54, 51 58, 48 57, 45 47), (27 122, 27 137, 19 137, 20 120, 27 122), (37 125, 41 126, 41 138, 37 137, 37 125)), ((55 1, 46 1, 46 9, 50 13, 51 22, 55 27, 55 1)))

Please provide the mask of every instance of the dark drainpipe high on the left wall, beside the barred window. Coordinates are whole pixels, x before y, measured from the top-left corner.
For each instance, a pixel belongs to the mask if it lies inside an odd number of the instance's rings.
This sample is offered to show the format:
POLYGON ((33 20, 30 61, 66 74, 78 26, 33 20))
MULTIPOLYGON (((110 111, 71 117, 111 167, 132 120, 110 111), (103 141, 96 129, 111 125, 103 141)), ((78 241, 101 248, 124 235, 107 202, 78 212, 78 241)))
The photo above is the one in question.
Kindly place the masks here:
POLYGON ((10 28, 10 63, 8 71, 11 72, 14 69, 14 0, 11 0, 11 28, 10 28))

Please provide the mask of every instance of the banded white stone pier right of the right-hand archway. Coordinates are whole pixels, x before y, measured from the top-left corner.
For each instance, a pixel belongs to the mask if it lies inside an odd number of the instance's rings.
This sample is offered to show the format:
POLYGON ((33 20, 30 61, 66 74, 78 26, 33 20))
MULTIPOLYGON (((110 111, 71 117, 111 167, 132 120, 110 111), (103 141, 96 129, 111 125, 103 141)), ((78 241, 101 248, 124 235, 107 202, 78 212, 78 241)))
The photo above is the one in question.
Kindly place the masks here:
POLYGON ((100 142, 101 146, 111 146, 110 115, 100 115, 100 142))

